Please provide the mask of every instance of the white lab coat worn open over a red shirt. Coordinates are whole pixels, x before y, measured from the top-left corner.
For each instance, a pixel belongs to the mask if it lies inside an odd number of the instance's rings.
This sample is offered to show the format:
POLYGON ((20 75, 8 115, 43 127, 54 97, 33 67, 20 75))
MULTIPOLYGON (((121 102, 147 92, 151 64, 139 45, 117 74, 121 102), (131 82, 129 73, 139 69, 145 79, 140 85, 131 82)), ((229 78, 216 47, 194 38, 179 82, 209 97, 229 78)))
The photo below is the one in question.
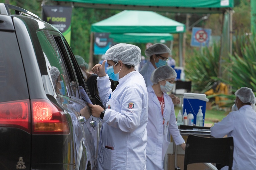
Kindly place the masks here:
POLYGON ((151 86, 148 89, 148 143, 146 146, 147 153, 147 170, 163 169, 162 161, 170 142, 167 140, 168 130, 171 133, 175 144, 181 144, 184 139, 180 135, 178 126, 176 125, 176 117, 172 99, 164 93, 164 119, 161 114, 161 106, 155 92, 151 86))

